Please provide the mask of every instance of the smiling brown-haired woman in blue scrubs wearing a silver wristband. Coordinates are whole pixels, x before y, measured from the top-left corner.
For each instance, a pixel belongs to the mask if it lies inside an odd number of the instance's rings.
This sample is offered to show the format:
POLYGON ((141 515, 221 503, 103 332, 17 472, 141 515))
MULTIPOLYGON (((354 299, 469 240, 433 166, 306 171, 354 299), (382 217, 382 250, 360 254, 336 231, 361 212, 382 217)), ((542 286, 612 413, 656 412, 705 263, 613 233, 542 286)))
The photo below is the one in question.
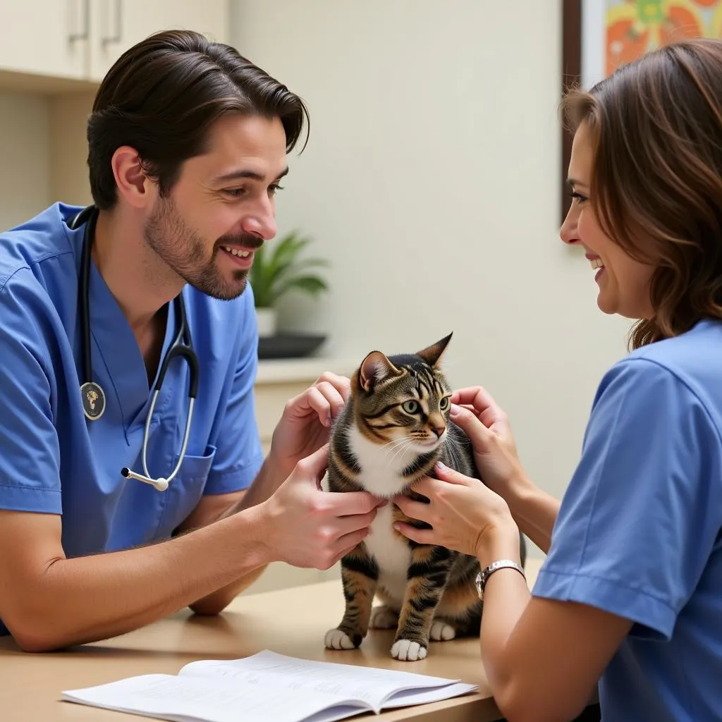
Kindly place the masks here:
POLYGON ((469 388, 451 419, 487 487, 440 469, 417 487, 429 505, 399 500, 432 531, 403 531, 487 570, 484 670, 510 721, 571 719, 598 680, 605 721, 718 721, 722 41, 669 45, 564 108, 562 240, 595 269, 599 308, 638 319, 633 350, 601 379, 561 505, 524 473, 489 393, 469 388), (534 596, 518 529, 548 552, 534 596))

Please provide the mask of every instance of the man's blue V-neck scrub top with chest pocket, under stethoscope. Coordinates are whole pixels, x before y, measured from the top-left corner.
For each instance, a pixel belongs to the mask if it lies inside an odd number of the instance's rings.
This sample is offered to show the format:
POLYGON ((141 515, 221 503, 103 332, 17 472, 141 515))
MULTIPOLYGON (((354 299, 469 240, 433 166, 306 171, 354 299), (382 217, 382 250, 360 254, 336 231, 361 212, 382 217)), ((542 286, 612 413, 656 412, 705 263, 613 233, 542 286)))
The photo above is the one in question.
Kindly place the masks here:
MULTIPOLYGON (((165 492, 121 476, 123 466, 143 471, 152 394, 133 331, 92 264, 92 370, 107 405, 96 421, 83 414, 78 274, 85 226, 66 225, 79 210, 54 204, 0 234, 0 508, 62 514, 68 557, 168 539, 203 495, 245 489, 263 461, 253 402, 258 332, 250 286, 232 301, 186 286, 199 360, 186 456, 165 492)), ((164 355, 175 321, 170 304, 164 355)), ((168 477, 175 466, 187 412, 188 365, 176 359, 150 426, 153 477, 168 477)))

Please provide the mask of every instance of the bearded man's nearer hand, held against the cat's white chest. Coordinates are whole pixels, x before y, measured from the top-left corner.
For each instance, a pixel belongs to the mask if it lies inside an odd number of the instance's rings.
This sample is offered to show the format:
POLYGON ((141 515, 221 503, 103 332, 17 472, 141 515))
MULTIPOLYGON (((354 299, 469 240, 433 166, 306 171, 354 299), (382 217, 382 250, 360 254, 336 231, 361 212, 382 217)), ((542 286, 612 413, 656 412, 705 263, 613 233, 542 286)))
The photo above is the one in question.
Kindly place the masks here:
POLYGON ((326 492, 328 445, 303 458, 269 500, 256 507, 271 560, 329 569, 369 534, 379 506, 367 492, 326 492))

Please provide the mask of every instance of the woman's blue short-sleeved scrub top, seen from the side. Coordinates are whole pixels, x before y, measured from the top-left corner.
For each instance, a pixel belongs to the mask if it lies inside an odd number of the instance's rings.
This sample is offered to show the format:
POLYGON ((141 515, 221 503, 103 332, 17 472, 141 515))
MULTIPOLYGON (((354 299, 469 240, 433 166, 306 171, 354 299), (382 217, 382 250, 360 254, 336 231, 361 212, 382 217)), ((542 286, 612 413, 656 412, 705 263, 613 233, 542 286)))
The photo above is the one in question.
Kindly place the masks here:
POLYGON ((534 594, 632 620, 604 720, 722 719, 722 323, 605 375, 534 594))

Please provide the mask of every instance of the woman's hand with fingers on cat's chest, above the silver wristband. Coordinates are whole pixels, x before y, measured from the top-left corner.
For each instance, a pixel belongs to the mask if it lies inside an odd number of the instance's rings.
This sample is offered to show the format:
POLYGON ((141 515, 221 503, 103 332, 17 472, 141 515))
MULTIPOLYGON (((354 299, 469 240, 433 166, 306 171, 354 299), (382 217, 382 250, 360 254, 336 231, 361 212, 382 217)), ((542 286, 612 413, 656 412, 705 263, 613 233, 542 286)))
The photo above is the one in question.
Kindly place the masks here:
POLYGON ((432 529, 396 522, 393 526, 397 531, 419 544, 437 544, 472 557, 486 556, 501 532, 503 539, 513 539, 518 554, 518 528, 500 495, 479 479, 466 477, 443 464, 437 464, 434 472, 438 478, 425 477, 412 486, 429 503, 406 496, 393 498, 406 516, 425 521, 432 529))

